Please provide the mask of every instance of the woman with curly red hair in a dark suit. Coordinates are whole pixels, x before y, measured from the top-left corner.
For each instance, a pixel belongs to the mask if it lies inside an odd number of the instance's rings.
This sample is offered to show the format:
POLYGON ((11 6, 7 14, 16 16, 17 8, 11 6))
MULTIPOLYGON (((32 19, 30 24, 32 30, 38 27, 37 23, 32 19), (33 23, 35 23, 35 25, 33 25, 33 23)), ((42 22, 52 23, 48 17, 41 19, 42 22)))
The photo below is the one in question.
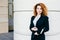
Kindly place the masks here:
POLYGON ((43 3, 34 6, 34 16, 31 17, 31 40, 45 40, 45 32, 49 30, 47 8, 43 3))

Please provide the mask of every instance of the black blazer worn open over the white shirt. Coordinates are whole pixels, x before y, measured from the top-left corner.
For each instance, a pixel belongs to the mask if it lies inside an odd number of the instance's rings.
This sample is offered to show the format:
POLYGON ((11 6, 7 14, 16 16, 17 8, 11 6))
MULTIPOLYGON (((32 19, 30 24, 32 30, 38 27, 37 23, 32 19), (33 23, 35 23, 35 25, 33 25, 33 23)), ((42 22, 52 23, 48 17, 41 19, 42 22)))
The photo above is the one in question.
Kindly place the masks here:
MULTIPOLYGON (((33 24, 33 20, 34 20, 35 16, 32 16, 31 17, 31 21, 30 21, 30 30, 32 27, 34 27, 34 24, 33 24)), ((38 34, 40 34, 41 30, 44 29, 43 33, 44 32, 47 32, 49 30, 49 20, 48 20, 48 16, 41 16, 39 18, 39 20, 37 21, 36 23, 36 27, 38 28, 38 34)), ((36 31, 33 31, 31 30, 32 33, 35 33, 36 31)))

